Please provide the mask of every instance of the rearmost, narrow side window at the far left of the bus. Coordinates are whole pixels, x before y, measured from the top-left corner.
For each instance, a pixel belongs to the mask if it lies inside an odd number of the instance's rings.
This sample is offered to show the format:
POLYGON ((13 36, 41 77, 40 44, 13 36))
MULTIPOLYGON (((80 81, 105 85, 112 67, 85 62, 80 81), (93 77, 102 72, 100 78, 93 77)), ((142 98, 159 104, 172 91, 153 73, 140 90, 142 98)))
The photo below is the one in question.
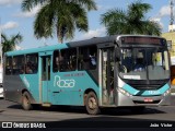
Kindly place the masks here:
POLYGON ((5 59, 5 75, 12 74, 12 57, 7 57, 5 59))

